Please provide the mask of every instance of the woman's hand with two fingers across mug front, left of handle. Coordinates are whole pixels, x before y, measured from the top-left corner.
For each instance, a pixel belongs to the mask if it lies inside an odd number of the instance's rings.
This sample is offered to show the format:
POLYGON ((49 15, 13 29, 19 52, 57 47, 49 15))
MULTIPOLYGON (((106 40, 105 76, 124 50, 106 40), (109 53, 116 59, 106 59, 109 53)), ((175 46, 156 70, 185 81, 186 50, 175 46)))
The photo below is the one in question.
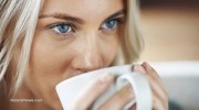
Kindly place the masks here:
MULTIPOLYGON (((105 74, 93 80, 76 96, 76 99, 72 102, 70 110, 88 110, 97 97, 105 92, 114 80, 115 77, 112 74, 105 74)), ((133 90, 130 86, 122 88, 119 92, 106 100, 98 110, 122 110, 130 100, 133 100, 133 98, 135 98, 132 92, 133 90)))

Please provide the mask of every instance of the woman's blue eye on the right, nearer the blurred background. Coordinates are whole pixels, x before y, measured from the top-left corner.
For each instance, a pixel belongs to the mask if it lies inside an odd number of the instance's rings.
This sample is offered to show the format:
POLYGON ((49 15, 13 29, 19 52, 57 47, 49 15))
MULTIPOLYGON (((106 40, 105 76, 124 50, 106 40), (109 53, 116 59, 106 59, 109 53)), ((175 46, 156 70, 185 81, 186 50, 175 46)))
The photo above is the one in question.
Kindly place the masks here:
POLYGON ((113 29, 115 29, 117 26, 117 23, 118 23, 117 20, 109 20, 109 21, 105 22, 102 25, 102 28, 113 30, 113 29))

